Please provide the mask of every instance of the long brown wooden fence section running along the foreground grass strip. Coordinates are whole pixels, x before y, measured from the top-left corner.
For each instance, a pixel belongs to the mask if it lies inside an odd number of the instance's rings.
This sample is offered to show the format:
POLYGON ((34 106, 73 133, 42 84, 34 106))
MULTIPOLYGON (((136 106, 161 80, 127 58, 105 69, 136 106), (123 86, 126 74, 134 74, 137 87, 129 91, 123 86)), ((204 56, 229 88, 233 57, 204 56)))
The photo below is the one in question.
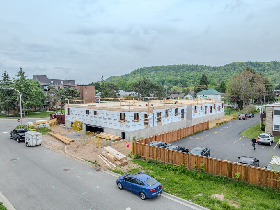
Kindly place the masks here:
MULTIPOLYGON (((165 163, 171 163, 177 166, 180 166, 180 164, 182 163, 187 169, 192 169, 194 164, 196 164, 196 166, 198 167, 201 163, 203 163, 205 170, 209 173, 235 178, 235 174, 238 172, 241 174, 240 179, 242 180, 254 183, 256 185, 259 184, 268 187, 274 187, 278 190, 280 189, 280 182, 274 181, 275 179, 277 179, 277 177, 272 170, 239 164, 235 162, 229 162, 225 160, 219 160, 212 157, 204 157, 200 155, 193 155, 190 153, 178 152, 175 150, 167 150, 166 148, 150 146, 145 143, 145 141, 149 143, 150 140, 154 141, 155 139, 156 137, 154 136, 134 141, 133 154, 139 153, 139 156, 142 158, 160 160, 165 163), (141 143, 140 141, 142 141, 143 143, 141 143)), ((162 139, 164 138, 162 137, 162 139)), ((280 172, 277 173, 278 176, 280 176, 280 172)))

